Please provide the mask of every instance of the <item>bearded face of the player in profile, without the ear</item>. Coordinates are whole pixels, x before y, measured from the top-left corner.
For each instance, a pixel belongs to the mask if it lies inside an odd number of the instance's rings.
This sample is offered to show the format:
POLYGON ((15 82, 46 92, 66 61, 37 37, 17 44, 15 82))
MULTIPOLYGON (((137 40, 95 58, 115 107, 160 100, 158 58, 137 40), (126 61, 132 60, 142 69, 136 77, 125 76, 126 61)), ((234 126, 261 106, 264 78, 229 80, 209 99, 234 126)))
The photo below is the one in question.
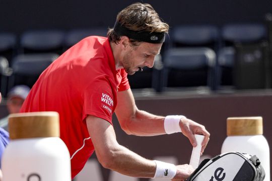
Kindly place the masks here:
POLYGON ((129 46, 120 62, 128 75, 142 70, 144 66, 152 68, 155 56, 160 53, 162 43, 143 42, 139 46, 129 46))

